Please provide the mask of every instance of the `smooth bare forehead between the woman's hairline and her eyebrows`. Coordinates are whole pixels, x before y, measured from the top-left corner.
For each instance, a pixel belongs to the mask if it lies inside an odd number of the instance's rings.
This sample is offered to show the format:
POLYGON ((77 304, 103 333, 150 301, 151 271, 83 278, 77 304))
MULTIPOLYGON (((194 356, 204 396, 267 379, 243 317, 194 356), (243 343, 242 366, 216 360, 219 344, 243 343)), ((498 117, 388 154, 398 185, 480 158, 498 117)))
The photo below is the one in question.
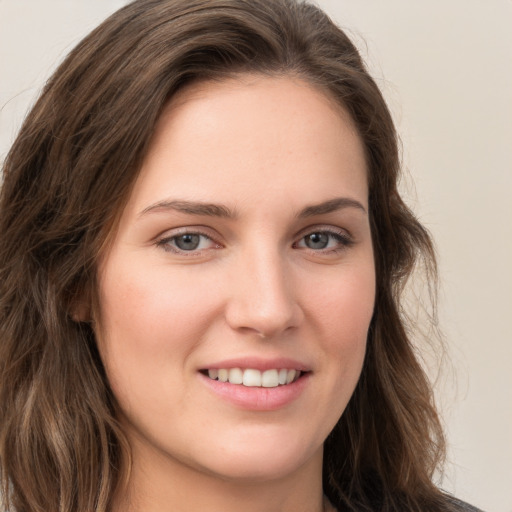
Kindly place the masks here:
POLYGON ((139 207, 155 193, 228 201, 261 194, 262 184, 290 199, 304 187, 328 196, 335 184, 367 195, 352 119, 299 78, 241 75, 179 91, 156 125, 132 199, 139 207))

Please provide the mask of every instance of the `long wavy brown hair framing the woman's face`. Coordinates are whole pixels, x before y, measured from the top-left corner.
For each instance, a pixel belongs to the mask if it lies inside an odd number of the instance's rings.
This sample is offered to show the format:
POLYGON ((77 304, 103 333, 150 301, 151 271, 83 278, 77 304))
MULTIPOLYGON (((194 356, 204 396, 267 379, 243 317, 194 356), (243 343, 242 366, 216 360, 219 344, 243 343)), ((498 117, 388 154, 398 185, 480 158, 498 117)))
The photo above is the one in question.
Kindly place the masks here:
POLYGON ((377 297, 366 360, 324 450, 340 510, 449 510, 432 483, 444 440, 401 295, 428 233, 397 191, 395 128, 351 41, 295 0, 137 0, 48 81, 4 165, 0 196, 0 462, 16 511, 109 509, 129 448, 78 301, 169 98, 237 73, 294 75, 352 116, 366 150, 377 297))

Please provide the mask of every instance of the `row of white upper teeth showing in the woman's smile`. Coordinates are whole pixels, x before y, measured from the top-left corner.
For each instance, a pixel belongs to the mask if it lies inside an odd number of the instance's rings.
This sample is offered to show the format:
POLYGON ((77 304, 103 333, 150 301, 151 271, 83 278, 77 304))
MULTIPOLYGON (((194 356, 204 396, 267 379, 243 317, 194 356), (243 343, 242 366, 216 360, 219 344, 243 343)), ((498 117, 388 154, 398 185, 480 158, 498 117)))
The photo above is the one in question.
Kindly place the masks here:
POLYGON ((242 384, 248 387, 276 388, 295 382, 301 375, 299 370, 286 368, 265 370, 260 372, 252 368, 219 368, 208 370, 208 377, 220 382, 242 384))

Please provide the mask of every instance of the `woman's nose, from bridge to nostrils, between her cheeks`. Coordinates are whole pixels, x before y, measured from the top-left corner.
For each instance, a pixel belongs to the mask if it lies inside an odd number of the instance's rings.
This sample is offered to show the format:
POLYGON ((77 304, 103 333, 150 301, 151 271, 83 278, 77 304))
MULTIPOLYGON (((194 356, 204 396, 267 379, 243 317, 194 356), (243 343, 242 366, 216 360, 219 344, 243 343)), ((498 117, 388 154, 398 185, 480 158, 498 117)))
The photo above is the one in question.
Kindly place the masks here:
POLYGON ((226 320, 232 329, 275 338, 301 324, 304 314, 292 272, 277 249, 241 257, 229 279, 226 320))

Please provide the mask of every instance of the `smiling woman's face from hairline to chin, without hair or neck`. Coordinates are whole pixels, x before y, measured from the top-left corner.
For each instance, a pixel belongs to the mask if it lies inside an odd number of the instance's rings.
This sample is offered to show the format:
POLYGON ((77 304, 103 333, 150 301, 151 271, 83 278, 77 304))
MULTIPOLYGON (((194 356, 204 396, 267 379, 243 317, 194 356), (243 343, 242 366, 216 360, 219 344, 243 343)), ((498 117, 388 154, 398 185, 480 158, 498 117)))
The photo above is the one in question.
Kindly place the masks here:
POLYGON ((367 212, 362 143, 324 93, 241 76, 174 97, 99 268, 135 464, 321 467, 373 312, 367 212))

